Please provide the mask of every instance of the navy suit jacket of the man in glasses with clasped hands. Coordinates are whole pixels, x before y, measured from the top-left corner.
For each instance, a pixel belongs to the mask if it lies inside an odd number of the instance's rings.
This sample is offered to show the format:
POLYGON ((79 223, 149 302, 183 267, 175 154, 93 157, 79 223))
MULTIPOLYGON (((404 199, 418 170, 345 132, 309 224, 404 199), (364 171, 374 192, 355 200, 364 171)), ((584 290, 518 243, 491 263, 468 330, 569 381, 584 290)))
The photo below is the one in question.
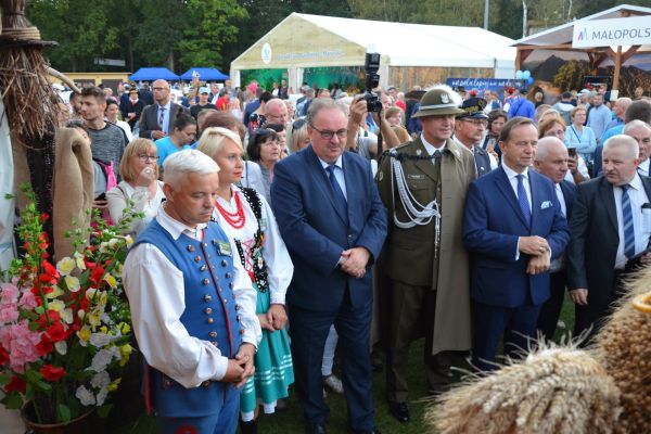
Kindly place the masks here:
POLYGON ((373 182, 371 166, 352 152, 343 154, 348 216, 343 215, 328 174, 311 145, 273 168, 271 206, 294 263, 288 302, 304 309, 336 311, 346 286, 353 306, 372 301, 370 266, 386 237, 386 209, 373 182), (363 246, 371 259, 363 278, 343 272, 343 251, 363 246))

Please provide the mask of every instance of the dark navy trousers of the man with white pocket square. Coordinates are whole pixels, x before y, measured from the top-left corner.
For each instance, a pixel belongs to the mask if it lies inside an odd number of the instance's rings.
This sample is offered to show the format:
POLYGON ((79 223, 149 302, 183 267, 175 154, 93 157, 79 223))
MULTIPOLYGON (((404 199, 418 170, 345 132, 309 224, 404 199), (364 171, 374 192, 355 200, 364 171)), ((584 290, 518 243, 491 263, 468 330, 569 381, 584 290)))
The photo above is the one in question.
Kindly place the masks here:
POLYGON ((520 358, 536 337, 540 307, 533 304, 519 307, 489 306, 473 301, 473 365, 482 371, 496 370, 497 346, 502 339, 505 356, 520 358))

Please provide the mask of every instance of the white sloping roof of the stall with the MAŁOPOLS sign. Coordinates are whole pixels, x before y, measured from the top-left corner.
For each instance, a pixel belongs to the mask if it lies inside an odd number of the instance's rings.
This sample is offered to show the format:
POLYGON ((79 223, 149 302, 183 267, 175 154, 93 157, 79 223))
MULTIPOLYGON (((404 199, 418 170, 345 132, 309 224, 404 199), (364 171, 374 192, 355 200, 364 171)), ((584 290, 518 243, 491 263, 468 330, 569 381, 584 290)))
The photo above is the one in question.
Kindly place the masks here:
MULTIPOLYGON (((580 21, 623 18, 635 15, 651 15, 651 8, 621 4, 593 15, 586 16, 582 20, 573 21, 571 23, 550 28, 532 36, 527 36, 526 38, 519 39, 513 43, 513 46, 558 46, 562 43, 571 43, 574 24, 580 21)), ((647 50, 642 48, 639 51, 647 50)))

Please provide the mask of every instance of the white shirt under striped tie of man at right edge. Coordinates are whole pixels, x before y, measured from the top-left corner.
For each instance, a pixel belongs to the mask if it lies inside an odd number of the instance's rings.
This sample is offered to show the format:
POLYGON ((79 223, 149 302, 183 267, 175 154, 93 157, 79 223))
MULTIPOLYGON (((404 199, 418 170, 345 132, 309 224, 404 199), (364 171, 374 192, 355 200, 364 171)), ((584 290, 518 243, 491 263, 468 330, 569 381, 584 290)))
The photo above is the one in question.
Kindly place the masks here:
MULTIPOLYGON (((633 214, 633 228, 635 230, 635 254, 647 250, 649 244, 649 232, 646 232, 642 224, 642 205, 649 202, 644 186, 638 174, 628 182, 628 199, 630 200, 630 212, 633 214)), ((620 235, 620 245, 617 246, 617 256, 615 256, 615 268, 623 269, 626 265, 626 256, 624 255, 624 213, 622 210, 622 194, 621 187, 613 186, 613 194, 615 196, 615 209, 617 213, 617 233, 620 235)))

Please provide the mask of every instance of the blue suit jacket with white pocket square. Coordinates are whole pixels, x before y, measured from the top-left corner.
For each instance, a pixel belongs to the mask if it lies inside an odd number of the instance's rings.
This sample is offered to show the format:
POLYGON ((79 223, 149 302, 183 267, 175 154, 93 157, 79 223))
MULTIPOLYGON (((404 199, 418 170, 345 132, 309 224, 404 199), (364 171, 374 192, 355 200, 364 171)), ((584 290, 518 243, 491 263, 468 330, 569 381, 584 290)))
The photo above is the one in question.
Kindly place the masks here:
POLYGON ((473 254, 470 295, 482 304, 519 307, 549 298, 549 273, 526 273, 531 256, 521 253, 515 259, 518 239, 545 238, 553 259, 563 253, 570 232, 551 180, 534 170, 528 170, 528 179, 531 227, 502 167, 470 184, 463 243, 473 254))

